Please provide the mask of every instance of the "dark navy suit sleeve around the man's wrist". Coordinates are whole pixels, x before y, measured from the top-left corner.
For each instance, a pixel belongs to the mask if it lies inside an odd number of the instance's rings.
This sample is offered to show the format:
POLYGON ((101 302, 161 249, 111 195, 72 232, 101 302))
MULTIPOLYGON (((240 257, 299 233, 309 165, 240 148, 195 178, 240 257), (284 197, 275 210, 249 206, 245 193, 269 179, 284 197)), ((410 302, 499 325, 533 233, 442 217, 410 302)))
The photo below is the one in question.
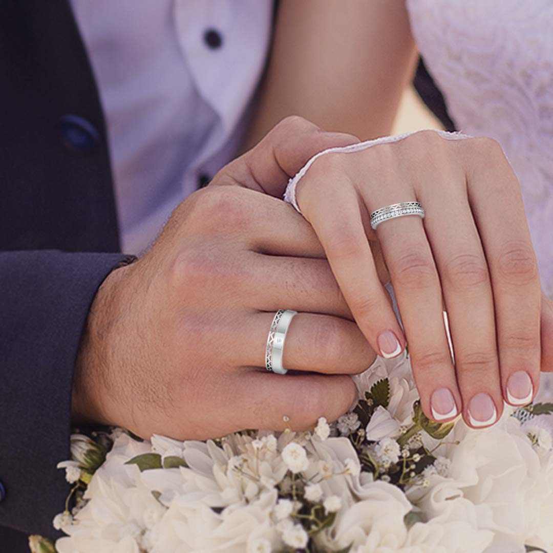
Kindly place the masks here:
POLYGON ((56 535, 70 489, 56 464, 70 455, 77 348, 97 289, 127 259, 0 252, 0 526, 56 535))

